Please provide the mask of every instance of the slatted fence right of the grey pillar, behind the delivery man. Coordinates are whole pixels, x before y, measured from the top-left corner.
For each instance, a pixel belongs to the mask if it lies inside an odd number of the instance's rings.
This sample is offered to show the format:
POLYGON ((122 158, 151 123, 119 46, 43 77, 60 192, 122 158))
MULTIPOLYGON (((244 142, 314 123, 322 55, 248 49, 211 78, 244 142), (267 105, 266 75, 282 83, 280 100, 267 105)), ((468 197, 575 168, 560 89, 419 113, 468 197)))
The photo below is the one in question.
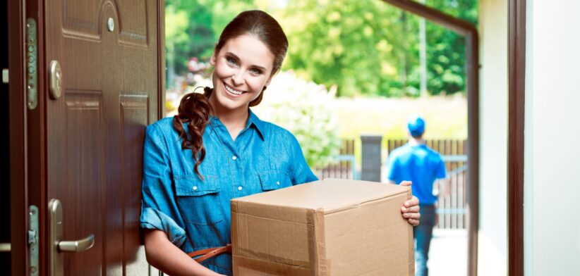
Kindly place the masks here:
MULTIPOLYGON (((464 229, 466 220, 467 142, 466 140, 427 140, 427 145, 439 152, 445 161, 447 178, 437 182, 442 191, 437 201, 437 228, 464 229)), ((391 152, 406 144, 406 140, 388 140, 391 152)))

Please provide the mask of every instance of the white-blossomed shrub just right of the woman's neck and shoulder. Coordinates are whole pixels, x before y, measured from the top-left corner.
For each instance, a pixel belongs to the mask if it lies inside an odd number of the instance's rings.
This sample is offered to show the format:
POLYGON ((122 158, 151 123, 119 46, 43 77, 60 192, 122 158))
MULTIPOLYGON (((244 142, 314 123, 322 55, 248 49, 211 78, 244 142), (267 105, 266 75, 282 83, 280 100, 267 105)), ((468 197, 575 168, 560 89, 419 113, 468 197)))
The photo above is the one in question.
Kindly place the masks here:
POLYGON ((262 120, 292 132, 302 146, 310 167, 325 168, 337 156, 338 114, 334 108, 336 89, 297 77, 292 71, 274 76, 262 103, 253 111, 262 120))

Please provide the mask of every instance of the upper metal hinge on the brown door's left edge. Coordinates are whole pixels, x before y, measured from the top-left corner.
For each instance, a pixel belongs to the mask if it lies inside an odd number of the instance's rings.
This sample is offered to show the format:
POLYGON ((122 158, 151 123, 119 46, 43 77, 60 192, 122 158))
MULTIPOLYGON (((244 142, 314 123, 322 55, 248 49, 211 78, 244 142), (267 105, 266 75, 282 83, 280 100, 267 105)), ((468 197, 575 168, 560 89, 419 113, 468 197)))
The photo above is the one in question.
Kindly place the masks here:
POLYGON ((37 93, 37 39, 36 21, 32 18, 26 20, 26 92, 28 109, 36 108, 38 104, 37 93))

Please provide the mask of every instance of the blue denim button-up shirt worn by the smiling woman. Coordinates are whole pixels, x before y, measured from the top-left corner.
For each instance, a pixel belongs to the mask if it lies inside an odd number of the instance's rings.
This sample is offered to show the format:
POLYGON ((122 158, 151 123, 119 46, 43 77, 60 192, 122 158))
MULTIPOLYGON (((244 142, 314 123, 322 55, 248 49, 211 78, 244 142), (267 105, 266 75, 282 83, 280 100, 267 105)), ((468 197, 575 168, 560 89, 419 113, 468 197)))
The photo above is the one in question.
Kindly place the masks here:
MULTIPOLYGON (((145 133, 140 227, 164 231, 186 253, 231 243, 231 199, 318 180, 294 135, 251 111, 235 141, 211 116, 203 145, 202 179, 193 170, 191 149, 181 149, 173 118, 145 133)), ((232 274, 230 253, 201 264, 232 274)))

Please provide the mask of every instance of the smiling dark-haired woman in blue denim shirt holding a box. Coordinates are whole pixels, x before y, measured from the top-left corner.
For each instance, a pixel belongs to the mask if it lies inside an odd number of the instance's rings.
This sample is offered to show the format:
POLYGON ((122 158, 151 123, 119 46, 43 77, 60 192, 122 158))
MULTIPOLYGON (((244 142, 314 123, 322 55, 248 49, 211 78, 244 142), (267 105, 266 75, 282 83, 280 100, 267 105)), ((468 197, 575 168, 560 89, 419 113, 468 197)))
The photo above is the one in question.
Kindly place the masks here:
MULTIPOLYGON (((317 180, 294 135, 249 109, 260 103, 287 49, 274 18, 240 13, 215 46, 214 88, 187 94, 179 115, 147 127, 140 225, 147 261, 159 270, 231 275, 229 253, 200 263, 186 254, 231 242, 230 199, 317 180)), ((405 206, 404 218, 417 225, 418 201, 405 206)))

